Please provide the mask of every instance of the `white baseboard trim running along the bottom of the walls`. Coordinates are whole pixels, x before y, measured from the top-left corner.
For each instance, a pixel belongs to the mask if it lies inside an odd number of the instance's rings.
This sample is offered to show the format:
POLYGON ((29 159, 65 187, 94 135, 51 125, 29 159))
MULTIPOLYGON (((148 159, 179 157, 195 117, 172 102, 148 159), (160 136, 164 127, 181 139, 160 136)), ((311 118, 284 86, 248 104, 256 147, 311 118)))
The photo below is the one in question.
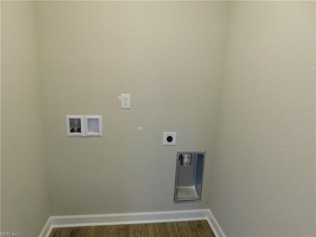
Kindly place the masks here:
POLYGON ((216 237, 226 237, 209 209, 50 216, 40 233, 40 237, 48 237, 53 228, 125 225, 193 220, 207 220, 216 237))

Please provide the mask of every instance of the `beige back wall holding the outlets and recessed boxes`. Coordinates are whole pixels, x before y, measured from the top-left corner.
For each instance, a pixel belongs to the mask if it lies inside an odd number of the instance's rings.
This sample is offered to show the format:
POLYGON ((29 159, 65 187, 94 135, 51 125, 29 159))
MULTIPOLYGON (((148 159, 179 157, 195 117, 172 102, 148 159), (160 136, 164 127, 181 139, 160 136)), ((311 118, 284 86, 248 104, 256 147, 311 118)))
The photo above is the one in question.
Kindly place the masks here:
POLYGON ((227 12, 215 1, 37 2, 52 215, 208 208, 227 12), (103 137, 66 137, 65 115, 102 115, 103 137), (163 131, 176 146, 162 146, 163 131), (173 203, 182 150, 206 150, 201 202, 173 203))

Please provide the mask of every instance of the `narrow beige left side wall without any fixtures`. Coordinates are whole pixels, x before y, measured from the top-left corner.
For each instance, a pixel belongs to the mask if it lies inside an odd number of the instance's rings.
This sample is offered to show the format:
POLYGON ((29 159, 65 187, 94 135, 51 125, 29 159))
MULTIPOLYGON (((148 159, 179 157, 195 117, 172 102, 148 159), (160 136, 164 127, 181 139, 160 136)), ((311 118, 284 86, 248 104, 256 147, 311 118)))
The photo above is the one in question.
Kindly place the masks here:
POLYGON ((1 233, 38 236, 49 216, 40 103, 34 3, 1 1, 1 233))

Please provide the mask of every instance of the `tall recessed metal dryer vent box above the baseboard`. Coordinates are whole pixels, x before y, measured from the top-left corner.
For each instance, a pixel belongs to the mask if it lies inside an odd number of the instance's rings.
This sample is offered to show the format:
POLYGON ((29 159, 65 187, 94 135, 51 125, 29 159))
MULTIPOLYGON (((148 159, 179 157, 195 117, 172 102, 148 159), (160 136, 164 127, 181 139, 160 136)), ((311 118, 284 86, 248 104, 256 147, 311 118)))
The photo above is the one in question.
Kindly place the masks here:
POLYGON ((177 153, 174 203, 201 201, 205 151, 177 153))

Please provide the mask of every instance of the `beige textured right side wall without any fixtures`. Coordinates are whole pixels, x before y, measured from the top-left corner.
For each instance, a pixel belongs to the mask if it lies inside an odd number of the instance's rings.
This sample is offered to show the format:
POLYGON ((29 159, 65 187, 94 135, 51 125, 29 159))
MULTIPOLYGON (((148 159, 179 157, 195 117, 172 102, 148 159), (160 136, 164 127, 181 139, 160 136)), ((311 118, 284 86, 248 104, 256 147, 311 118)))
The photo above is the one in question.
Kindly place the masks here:
POLYGON ((230 8, 210 209, 227 236, 316 236, 315 1, 230 8))

